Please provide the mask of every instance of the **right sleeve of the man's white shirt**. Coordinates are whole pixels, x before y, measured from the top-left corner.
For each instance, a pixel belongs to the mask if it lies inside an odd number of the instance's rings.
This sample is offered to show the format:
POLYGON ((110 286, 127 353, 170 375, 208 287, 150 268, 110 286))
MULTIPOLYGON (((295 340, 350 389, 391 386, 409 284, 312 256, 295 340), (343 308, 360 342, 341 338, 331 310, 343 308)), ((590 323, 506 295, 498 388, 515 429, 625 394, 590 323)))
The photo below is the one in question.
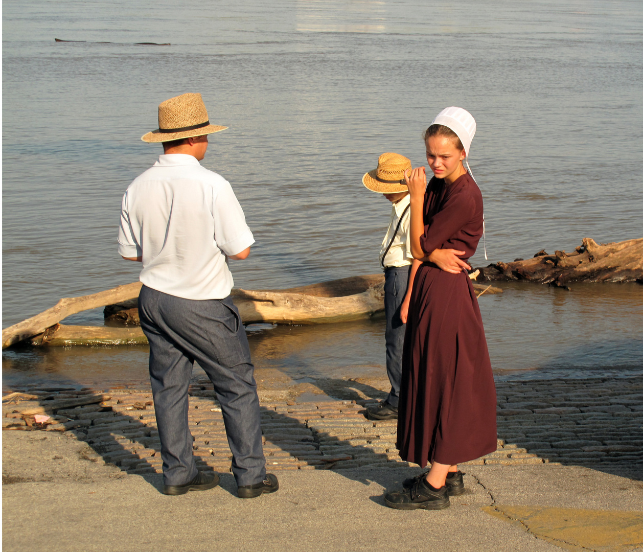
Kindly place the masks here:
POLYGON ((214 240, 226 255, 241 253, 255 243, 239 201, 226 180, 213 196, 212 216, 214 240))

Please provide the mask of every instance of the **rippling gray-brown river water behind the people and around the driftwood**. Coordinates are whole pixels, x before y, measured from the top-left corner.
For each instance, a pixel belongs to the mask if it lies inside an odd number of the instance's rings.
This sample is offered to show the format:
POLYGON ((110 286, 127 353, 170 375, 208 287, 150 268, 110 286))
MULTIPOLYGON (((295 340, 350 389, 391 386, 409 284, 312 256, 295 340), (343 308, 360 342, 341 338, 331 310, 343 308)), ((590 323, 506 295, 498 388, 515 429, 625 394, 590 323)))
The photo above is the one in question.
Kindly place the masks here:
MULTIPOLYGON (((386 151, 425 163, 422 130, 449 105, 478 124, 489 260, 481 244, 473 265, 640 237, 642 30, 639 1, 6 0, 3 327, 138 278, 116 253, 120 199, 161 152, 140 141, 158 103, 188 91, 230 127, 203 165, 257 240, 231 263, 239 287, 377 272, 390 205, 361 175, 386 151)), ((498 377, 643 366, 640 285, 507 285, 480 307, 498 377)), ((381 319, 251 344, 294 376, 383 372, 381 319)), ((144 378, 146 355, 15 350, 3 378, 144 378)))

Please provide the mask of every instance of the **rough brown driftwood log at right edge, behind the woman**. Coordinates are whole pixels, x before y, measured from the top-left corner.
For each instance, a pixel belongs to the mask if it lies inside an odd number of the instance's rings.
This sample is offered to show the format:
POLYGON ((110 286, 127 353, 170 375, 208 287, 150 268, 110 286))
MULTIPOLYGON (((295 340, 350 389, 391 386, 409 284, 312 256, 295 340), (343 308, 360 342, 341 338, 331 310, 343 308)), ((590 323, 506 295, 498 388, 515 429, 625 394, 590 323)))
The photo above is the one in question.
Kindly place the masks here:
POLYGON ((572 253, 544 250, 530 259, 496 263, 479 268, 478 281, 523 280, 548 283, 568 289, 577 281, 643 283, 643 238, 597 244, 584 238, 572 253))

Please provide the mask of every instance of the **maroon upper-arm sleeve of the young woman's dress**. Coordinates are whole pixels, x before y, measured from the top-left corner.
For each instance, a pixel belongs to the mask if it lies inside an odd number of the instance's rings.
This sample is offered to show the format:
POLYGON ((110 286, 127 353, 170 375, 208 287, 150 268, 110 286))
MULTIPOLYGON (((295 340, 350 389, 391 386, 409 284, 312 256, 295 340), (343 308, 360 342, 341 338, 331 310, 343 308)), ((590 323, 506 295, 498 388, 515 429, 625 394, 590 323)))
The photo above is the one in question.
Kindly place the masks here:
POLYGON ((475 202, 464 188, 453 190, 445 199, 440 210, 430 217, 420 238, 422 251, 427 255, 441 249, 442 245, 456 235, 458 230, 471 220, 475 213, 475 202))

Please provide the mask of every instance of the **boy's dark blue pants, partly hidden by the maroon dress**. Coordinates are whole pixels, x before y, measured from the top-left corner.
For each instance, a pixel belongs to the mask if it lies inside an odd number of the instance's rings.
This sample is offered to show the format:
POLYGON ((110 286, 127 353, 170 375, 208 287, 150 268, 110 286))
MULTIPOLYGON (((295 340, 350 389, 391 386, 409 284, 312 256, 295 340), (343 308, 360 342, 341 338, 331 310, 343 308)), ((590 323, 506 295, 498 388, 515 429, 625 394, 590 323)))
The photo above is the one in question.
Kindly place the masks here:
POLYGON ((386 373, 391 382, 388 404, 397 407, 402 380, 402 350, 406 325, 400 319, 400 307, 406 295, 411 267, 388 267, 384 271, 384 312, 386 314, 386 373))

